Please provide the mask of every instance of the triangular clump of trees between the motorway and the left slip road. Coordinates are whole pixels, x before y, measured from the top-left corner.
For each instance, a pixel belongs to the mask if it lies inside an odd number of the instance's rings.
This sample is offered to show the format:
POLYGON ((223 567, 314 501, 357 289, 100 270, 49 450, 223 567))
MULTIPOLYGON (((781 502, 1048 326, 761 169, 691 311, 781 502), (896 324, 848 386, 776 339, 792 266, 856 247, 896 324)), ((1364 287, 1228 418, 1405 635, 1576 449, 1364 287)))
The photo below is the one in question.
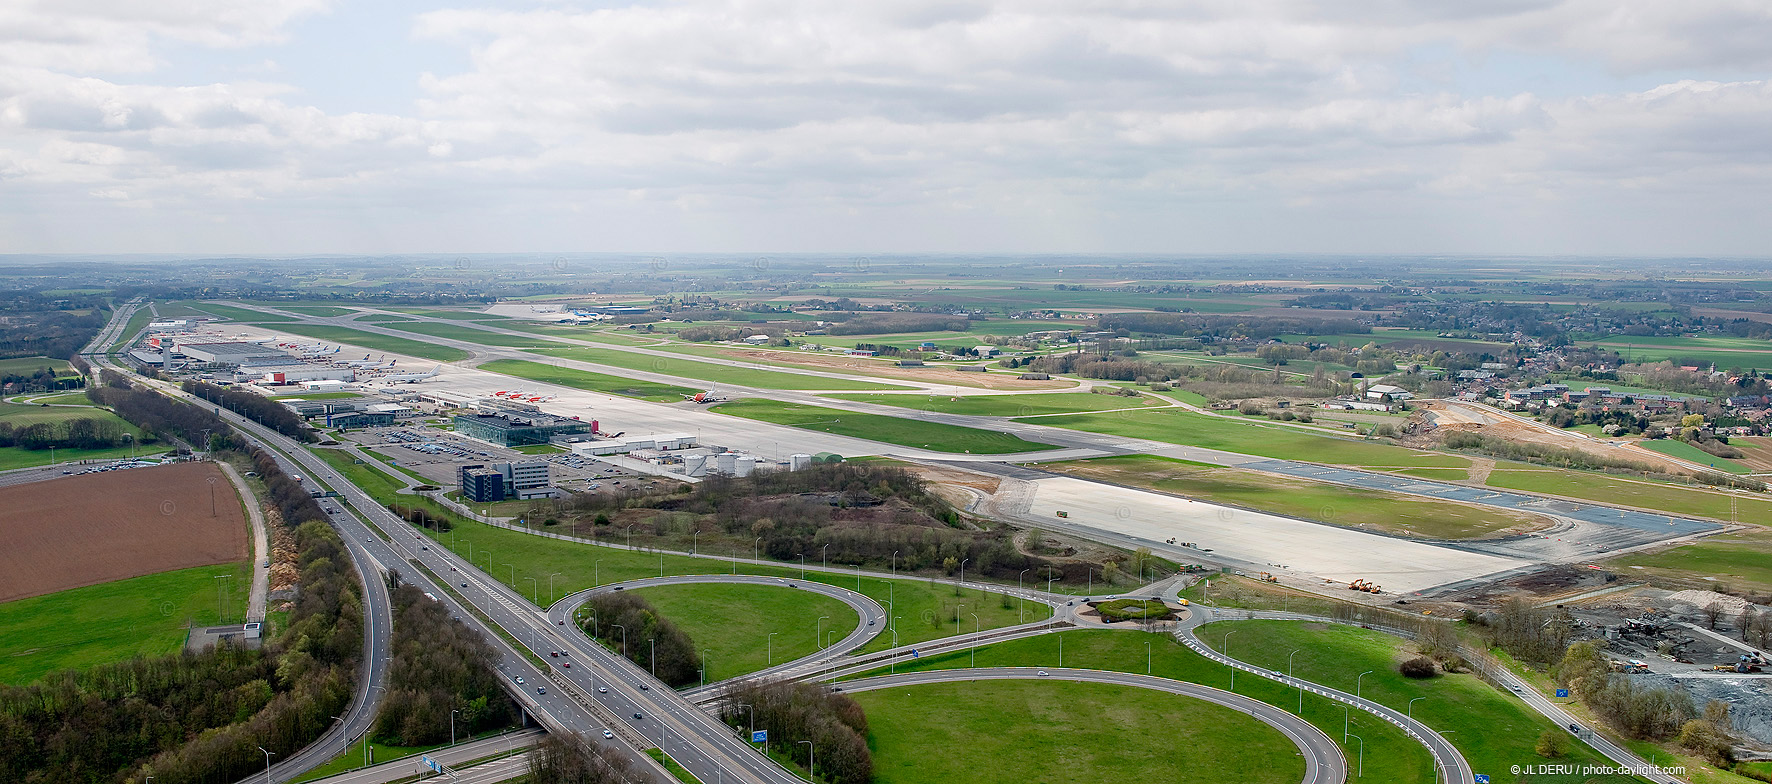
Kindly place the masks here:
POLYGON ((494 663, 498 653, 443 603, 388 573, 393 596, 393 662, 388 695, 376 718, 376 740, 416 747, 450 740, 450 711, 461 711, 455 729, 471 734, 503 727, 516 718, 494 663))

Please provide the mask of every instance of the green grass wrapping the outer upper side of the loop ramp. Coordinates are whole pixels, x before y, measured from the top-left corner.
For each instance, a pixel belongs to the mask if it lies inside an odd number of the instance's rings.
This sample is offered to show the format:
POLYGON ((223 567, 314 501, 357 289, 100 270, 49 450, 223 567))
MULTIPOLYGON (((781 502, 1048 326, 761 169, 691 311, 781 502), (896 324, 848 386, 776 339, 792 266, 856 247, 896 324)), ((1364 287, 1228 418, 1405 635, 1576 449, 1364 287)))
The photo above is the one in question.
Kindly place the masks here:
MULTIPOLYGON (((509 582, 512 571, 507 564, 516 566, 517 582, 512 584, 512 587, 517 591, 532 591, 532 584, 526 578, 537 578, 539 585, 535 591, 539 591, 544 605, 553 603, 553 600, 558 600, 560 596, 594 585, 659 576, 661 564, 664 575, 727 575, 734 571, 730 561, 696 559, 673 553, 661 555, 597 546, 592 543, 548 539, 471 520, 459 520, 455 523, 454 537, 450 532, 439 534, 427 530, 425 534, 441 545, 454 548, 454 552, 462 557, 471 553, 480 568, 487 569, 486 573, 496 580, 509 582), (549 594, 548 576, 555 573, 558 573, 558 576, 553 578, 553 592, 549 594)), ((966 628, 976 626, 987 630, 1014 626, 1022 621, 1042 621, 1051 615, 1051 608, 1045 605, 1031 601, 1017 605, 1015 601, 1010 601, 1008 607, 1003 607, 1005 601, 1001 594, 983 592, 976 587, 955 591, 952 585, 937 585, 918 578, 886 580, 863 576, 858 582, 854 576, 815 571, 808 571, 801 576, 797 566, 787 564, 737 564, 737 573, 780 576, 789 578, 789 582, 813 580, 858 591, 877 601, 881 607, 891 607, 891 614, 898 617, 897 639, 900 644, 934 640, 955 633, 952 617, 955 614, 962 614, 960 617, 968 621, 966 628), (964 610, 960 605, 966 605, 964 610), (978 614, 976 623, 971 621, 973 612, 978 614)), ((781 639, 776 637, 776 642, 780 640, 781 639)), ((893 635, 888 630, 881 630, 881 635, 863 646, 861 651, 881 651, 891 647, 891 644, 893 635)))

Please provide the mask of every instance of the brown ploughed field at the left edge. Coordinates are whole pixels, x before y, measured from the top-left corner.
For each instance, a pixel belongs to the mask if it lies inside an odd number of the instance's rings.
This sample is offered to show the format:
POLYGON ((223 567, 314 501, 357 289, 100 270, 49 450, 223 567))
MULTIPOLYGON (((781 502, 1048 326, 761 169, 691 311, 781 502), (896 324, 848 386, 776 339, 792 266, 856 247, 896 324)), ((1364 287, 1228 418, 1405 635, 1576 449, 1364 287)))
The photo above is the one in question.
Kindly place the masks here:
POLYGON ((0 488, 0 601, 246 555, 239 495, 209 463, 0 488))

